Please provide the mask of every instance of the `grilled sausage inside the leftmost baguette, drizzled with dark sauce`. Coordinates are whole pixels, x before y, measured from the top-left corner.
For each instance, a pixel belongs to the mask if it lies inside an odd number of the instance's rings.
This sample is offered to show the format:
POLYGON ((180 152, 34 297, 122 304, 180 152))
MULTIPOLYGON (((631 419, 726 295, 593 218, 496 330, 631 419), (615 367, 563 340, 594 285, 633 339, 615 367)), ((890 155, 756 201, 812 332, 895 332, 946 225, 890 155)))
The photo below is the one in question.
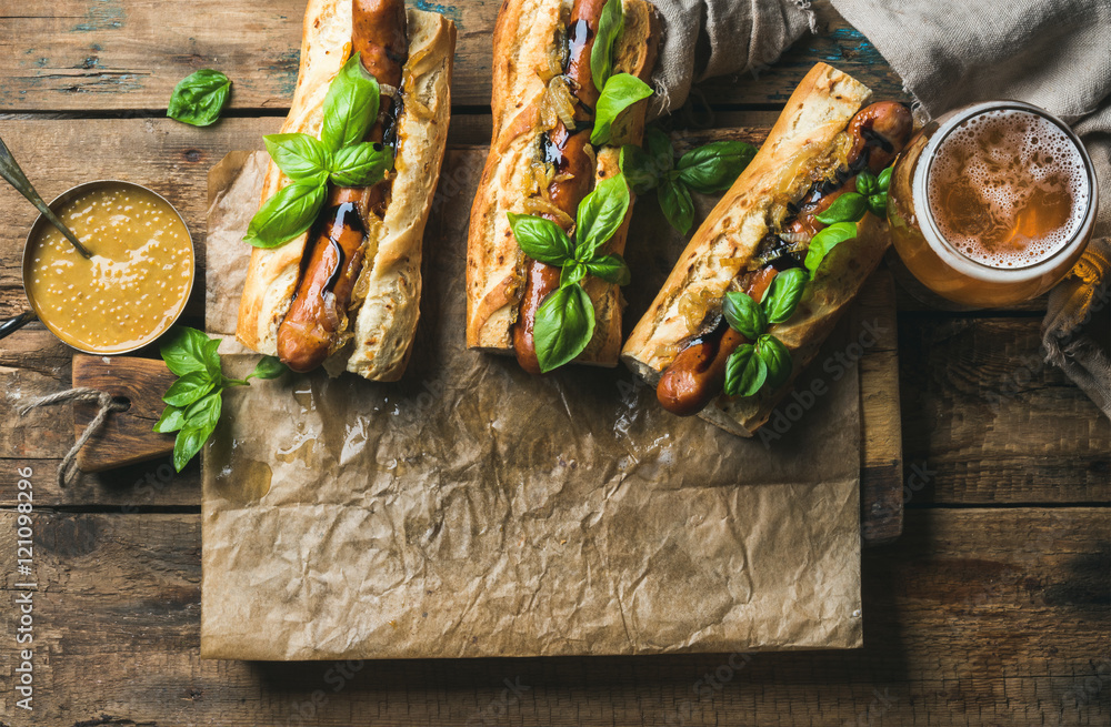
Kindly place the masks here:
MULTIPOLYGON (((382 87, 381 109, 389 109, 401 84, 409 53, 403 0, 353 0, 352 50, 382 87), (389 88, 388 88, 389 87, 389 88)), ((379 117, 367 134, 380 142, 387 131, 379 117)), ((332 352, 347 323, 351 293, 363 263, 370 214, 380 214, 388 181, 364 188, 332 188, 327 213, 307 254, 301 281, 278 329, 278 357, 293 371, 319 366, 332 352)))

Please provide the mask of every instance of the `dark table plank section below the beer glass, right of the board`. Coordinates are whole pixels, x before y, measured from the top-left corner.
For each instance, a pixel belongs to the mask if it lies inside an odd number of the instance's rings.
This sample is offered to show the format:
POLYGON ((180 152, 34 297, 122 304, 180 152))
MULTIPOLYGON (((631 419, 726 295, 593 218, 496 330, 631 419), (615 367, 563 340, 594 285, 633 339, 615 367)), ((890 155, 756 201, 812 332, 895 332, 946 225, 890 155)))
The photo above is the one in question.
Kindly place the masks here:
POLYGON ((921 503, 1111 498, 1111 422, 1040 351, 1040 319, 902 316, 907 495, 921 503))

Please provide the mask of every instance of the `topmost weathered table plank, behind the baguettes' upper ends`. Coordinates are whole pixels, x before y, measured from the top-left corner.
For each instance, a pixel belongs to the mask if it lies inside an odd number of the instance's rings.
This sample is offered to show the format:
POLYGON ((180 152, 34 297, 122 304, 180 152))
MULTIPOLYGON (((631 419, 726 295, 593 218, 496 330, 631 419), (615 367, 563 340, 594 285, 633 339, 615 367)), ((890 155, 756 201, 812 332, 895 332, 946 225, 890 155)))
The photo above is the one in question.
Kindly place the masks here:
MULTIPOLYGON (((453 101, 489 107, 492 32, 500 2, 418 7, 456 21, 453 101)), ((901 85, 875 48, 829 3, 817 3, 822 32, 805 36, 771 68, 701 84, 689 111, 781 104, 818 60, 855 75, 880 95, 901 85)), ((284 109, 297 82, 302 0, 249 3, 193 0, 28 0, 0 9, 0 111, 164 109, 174 84, 200 68, 231 78, 233 109, 284 109)))

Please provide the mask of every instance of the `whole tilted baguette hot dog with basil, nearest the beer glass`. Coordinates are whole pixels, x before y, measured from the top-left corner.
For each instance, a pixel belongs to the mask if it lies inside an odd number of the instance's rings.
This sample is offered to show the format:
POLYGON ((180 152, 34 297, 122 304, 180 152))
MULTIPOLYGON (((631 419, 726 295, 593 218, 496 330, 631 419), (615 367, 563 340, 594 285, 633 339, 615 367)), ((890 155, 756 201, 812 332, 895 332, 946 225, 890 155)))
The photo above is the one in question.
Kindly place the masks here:
POLYGON ((751 436, 879 263, 877 175, 913 121, 870 97, 814 67, 694 234, 622 351, 667 410, 751 436))

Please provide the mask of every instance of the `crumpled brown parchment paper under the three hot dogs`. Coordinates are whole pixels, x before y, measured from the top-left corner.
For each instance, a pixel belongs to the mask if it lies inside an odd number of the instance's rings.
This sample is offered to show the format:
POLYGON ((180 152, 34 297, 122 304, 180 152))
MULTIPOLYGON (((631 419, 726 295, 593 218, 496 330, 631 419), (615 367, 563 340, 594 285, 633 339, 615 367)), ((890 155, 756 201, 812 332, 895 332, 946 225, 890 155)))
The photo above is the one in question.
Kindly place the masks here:
MULTIPOLYGON (((467 216, 484 155, 446 160, 401 382, 287 374, 224 395, 203 457, 201 655, 860 646, 855 372, 765 445, 668 414, 623 367, 534 378, 467 351, 467 216)), ((216 333, 233 332, 238 240, 264 161, 236 153, 210 179, 216 333)), ((654 203, 638 208, 627 329, 681 244, 654 203)), ((230 371, 257 359, 223 350, 230 371)))

